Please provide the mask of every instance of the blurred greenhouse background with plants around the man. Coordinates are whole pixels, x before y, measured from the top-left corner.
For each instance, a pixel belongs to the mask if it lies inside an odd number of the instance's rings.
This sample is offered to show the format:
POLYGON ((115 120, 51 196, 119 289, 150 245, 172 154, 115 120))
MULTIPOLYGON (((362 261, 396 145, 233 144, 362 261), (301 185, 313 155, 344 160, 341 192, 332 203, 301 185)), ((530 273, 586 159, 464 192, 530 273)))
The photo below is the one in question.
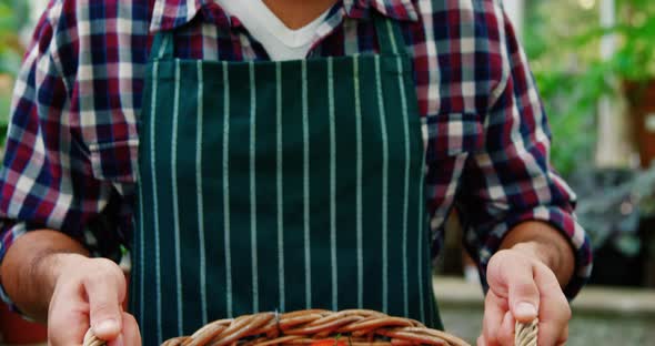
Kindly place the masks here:
MULTIPOLYGON (((578 194, 577 216, 594 245, 592 281, 573 303, 568 344, 655 345, 655 1, 503 1, 551 121, 553 165, 578 194)), ((47 2, 0 0, 0 143, 14 78, 47 2)), ((449 332, 474 343, 483 297, 456 215, 450 227, 435 289, 449 332)), ((43 339, 42 327, 0 308, 0 343, 43 339)))

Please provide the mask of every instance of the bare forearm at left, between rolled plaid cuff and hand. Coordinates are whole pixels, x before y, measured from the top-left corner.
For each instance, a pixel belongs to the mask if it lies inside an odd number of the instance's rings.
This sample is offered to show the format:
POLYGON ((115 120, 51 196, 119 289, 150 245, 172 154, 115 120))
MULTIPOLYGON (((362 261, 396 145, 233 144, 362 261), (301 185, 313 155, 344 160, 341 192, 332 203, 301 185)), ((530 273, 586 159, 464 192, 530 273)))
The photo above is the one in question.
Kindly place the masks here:
POLYGON ((46 320, 57 278, 80 255, 88 256, 82 244, 61 232, 29 232, 13 243, 2 261, 4 291, 22 313, 46 320))

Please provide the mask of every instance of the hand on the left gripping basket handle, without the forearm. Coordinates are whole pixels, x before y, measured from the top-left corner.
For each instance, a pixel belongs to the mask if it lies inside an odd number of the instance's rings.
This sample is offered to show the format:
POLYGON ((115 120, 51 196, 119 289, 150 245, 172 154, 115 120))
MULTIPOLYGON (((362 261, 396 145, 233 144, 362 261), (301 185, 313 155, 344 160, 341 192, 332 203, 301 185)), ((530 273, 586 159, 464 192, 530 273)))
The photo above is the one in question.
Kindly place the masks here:
POLYGON ((115 263, 78 254, 49 257, 61 269, 48 309, 50 345, 81 345, 89 326, 110 346, 141 345, 137 320, 122 309, 125 277, 115 263))

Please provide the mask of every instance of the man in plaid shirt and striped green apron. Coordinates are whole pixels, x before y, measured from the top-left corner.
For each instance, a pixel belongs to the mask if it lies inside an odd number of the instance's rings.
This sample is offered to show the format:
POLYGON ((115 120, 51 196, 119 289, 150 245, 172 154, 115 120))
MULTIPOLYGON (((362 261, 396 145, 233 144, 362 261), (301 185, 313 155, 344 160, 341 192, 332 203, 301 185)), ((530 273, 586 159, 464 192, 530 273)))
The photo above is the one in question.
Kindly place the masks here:
POLYGON ((53 345, 310 307, 442 327, 453 206, 478 344, 566 340, 590 246, 500 1, 51 1, 12 110, 0 274, 53 345))

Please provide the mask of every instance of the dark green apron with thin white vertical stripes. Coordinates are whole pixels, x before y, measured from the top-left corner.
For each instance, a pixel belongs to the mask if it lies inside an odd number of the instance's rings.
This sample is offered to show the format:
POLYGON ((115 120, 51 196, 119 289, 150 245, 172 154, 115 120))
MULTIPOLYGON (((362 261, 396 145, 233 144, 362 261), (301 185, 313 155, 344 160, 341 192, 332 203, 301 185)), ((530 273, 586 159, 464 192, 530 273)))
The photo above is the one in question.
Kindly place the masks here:
POLYGON ((140 128, 131 311, 144 345, 264 311, 370 308, 440 327, 411 61, 173 58, 158 33, 140 128))

